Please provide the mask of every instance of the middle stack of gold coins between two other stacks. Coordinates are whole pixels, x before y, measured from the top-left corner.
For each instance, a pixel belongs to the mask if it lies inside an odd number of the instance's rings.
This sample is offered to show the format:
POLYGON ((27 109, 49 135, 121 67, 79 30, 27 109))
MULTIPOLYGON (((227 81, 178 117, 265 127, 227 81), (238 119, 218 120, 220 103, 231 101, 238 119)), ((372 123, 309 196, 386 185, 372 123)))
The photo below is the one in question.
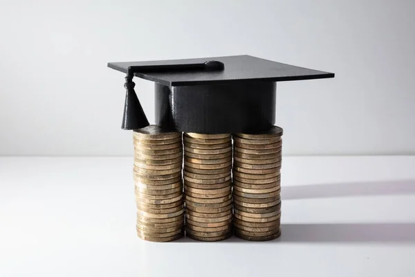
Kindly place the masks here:
POLYGON ((183 136, 186 235, 219 241, 232 236, 232 139, 230 134, 183 136))

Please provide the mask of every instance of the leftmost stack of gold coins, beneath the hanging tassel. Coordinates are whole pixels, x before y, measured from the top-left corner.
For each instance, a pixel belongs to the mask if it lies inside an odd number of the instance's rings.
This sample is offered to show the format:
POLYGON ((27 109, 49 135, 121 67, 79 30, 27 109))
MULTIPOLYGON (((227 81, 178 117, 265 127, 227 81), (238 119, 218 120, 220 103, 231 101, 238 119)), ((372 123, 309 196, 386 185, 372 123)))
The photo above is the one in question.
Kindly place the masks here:
POLYGON ((181 132, 156 125, 133 132, 137 235, 169 242, 183 237, 183 145, 181 132))

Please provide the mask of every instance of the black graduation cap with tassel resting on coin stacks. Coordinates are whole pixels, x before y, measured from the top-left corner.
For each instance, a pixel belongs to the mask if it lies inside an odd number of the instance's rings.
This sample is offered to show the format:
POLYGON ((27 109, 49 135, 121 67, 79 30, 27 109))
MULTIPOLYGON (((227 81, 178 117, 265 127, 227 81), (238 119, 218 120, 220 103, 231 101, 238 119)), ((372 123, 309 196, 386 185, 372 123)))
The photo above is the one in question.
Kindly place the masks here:
POLYGON ((333 73, 250 55, 150 62, 110 62, 123 73, 122 129, 149 125, 133 76, 156 82, 156 124, 201 134, 255 134, 275 124, 276 82, 333 78, 333 73))

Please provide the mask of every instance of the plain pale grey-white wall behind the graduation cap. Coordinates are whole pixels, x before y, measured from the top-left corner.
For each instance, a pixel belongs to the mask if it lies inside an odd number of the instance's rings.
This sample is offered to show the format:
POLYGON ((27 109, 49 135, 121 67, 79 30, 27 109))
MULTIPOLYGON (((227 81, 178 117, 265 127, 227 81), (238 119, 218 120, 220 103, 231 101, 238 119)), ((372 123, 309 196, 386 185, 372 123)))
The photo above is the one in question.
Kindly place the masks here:
MULTIPOLYGON (((415 154, 415 1, 1 1, 0 155, 131 155, 107 62, 248 54, 330 71, 277 85, 284 154, 415 154)), ((150 82, 136 91, 154 123, 150 82)))

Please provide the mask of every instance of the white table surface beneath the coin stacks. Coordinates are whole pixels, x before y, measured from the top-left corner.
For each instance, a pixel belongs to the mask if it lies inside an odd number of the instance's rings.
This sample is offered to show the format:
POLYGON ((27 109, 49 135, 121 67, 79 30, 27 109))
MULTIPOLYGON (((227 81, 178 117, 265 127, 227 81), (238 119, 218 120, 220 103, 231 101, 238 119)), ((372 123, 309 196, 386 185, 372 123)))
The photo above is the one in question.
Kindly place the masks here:
POLYGON ((140 240, 131 170, 0 157, 0 276, 415 276, 415 157, 284 157, 271 242, 140 240))

